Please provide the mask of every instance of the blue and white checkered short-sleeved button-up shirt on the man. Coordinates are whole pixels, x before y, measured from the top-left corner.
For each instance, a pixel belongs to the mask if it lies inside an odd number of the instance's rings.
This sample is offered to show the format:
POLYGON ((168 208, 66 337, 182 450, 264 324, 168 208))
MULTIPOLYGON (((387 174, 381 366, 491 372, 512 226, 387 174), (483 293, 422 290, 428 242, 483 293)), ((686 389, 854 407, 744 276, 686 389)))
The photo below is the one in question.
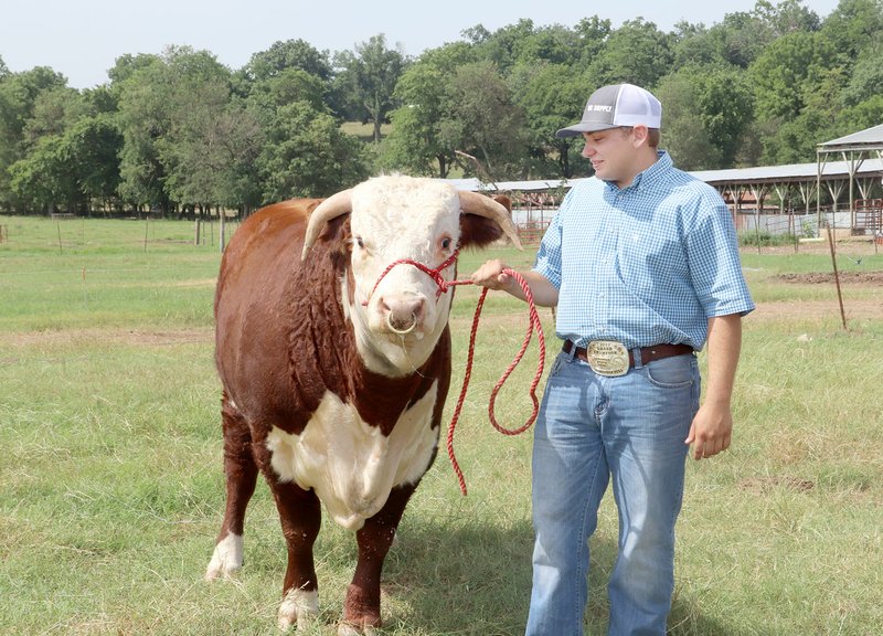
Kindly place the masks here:
POLYGON ((558 338, 581 347, 699 350, 709 318, 754 309, 730 211, 667 152, 625 189, 597 178, 574 186, 533 269, 558 288, 558 338))

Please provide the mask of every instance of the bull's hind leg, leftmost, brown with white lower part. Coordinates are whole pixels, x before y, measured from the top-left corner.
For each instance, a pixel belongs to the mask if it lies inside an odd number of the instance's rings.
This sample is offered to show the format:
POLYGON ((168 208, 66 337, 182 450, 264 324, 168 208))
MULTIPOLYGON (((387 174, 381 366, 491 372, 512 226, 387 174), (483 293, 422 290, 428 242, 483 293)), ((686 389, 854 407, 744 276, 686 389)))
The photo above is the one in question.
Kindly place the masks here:
POLYGON ((205 579, 230 576, 242 568, 245 509, 255 491, 257 465, 252 453, 252 433, 236 406, 224 395, 221 409, 224 428, 226 508, 217 542, 205 570, 205 579))

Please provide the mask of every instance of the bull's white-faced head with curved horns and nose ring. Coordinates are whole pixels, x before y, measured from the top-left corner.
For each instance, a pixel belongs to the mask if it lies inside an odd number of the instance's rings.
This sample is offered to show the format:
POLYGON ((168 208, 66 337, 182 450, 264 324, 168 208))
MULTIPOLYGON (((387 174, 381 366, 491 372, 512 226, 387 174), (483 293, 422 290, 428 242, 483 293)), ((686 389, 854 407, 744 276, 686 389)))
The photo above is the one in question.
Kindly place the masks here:
MULTIPOLYGON (((394 176, 371 179, 320 203, 307 226, 305 258, 325 224, 342 214, 350 214, 352 233, 344 309, 365 363, 386 375, 423 364, 447 325, 451 297, 439 296, 432 277, 411 265, 380 278, 392 263, 411 259, 435 269, 458 247, 482 246, 503 233, 521 248, 501 203, 440 180, 394 176), (354 289, 348 288, 351 284, 354 289)), ((455 272, 451 262, 442 274, 453 279, 455 272)))

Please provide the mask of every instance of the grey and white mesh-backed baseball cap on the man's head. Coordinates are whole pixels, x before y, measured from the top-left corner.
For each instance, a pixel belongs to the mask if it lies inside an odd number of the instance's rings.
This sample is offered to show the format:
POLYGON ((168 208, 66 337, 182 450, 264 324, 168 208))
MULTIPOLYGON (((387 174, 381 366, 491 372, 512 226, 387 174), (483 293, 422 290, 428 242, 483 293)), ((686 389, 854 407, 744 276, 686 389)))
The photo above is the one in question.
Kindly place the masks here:
POLYGON ((583 119, 555 132, 555 137, 578 137, 619 126, 660 128, 662 105, 652 93, 634 84, 610 84, 595 91, 586 102, 583 119))

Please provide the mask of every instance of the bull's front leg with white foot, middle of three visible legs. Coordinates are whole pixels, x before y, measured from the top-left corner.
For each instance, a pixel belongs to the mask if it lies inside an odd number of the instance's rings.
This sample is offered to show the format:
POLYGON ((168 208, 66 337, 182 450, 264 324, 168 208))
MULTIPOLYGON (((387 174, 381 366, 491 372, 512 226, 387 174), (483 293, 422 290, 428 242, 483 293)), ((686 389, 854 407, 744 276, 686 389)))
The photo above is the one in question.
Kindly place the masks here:
POLYGON ((319 498, 312 490, 280 484, 268 477, 283 534, 288 545, 288 569, 279 605, 279 629, 291 625, 304 628, 319 613, 319 585, 312 560, 312 545, 321 526, 319 498))

